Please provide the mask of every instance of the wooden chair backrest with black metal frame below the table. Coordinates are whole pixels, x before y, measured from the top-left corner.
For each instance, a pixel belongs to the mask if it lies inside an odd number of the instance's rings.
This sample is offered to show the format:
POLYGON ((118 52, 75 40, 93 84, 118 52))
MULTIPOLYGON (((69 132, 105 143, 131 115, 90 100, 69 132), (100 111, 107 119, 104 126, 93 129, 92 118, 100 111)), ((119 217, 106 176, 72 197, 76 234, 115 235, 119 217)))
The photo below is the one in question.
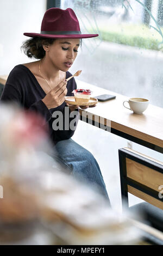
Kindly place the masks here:
POLYGON ((128 192, 163 210, 163 162, 128 148, 119 149, 122 206, 128 192))

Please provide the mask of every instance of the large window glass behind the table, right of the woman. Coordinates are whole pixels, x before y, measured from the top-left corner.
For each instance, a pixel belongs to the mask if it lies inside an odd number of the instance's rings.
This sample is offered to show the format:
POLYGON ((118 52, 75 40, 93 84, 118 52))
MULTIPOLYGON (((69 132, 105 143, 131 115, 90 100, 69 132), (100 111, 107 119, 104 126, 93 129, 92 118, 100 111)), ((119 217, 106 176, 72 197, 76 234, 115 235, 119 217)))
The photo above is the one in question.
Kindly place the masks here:
POLYGON ((72 69, 79 79, 129 97, 145 97, 163 107, 163 3, 159 0, 67 0, 83 39, 72 69))

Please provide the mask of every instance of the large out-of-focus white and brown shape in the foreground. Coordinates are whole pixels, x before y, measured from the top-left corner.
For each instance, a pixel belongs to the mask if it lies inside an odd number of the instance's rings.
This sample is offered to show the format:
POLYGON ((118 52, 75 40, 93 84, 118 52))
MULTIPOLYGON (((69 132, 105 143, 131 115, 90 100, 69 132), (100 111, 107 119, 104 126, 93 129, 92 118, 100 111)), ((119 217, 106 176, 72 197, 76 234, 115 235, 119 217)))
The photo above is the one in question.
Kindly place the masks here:
POLYGON ((5 105, 0 114, 0 244, 123 245, 139 240, 127 216, 49 161, 45 151, 51 146, 40 117, 5 105))

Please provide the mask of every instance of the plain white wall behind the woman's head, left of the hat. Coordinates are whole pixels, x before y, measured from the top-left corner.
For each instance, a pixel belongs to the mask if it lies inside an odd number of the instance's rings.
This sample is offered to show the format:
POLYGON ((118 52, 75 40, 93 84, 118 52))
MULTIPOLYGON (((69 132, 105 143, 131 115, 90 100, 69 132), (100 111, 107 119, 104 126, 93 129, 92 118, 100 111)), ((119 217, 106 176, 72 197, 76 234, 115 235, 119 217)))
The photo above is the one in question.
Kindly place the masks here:
POLYGON ((24 32, 39 33, 46 11, 46 0, 0 1, 0 75, 9 74, 15 65, 31 62, 20 47, 29 39, 24 32))

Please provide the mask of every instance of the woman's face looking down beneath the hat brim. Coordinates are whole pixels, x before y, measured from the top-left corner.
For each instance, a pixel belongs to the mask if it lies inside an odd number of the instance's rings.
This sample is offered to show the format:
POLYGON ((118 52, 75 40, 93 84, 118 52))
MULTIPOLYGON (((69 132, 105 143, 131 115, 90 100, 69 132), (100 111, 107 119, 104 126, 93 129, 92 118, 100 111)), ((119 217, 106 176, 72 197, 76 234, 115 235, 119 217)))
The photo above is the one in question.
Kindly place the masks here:
POLYGON ((55 68, 67 71, 71 68, 77 57, 79 45, 80 39, 55 39, 52 45, 47 46, 46 57, 48 57, 55 68))

